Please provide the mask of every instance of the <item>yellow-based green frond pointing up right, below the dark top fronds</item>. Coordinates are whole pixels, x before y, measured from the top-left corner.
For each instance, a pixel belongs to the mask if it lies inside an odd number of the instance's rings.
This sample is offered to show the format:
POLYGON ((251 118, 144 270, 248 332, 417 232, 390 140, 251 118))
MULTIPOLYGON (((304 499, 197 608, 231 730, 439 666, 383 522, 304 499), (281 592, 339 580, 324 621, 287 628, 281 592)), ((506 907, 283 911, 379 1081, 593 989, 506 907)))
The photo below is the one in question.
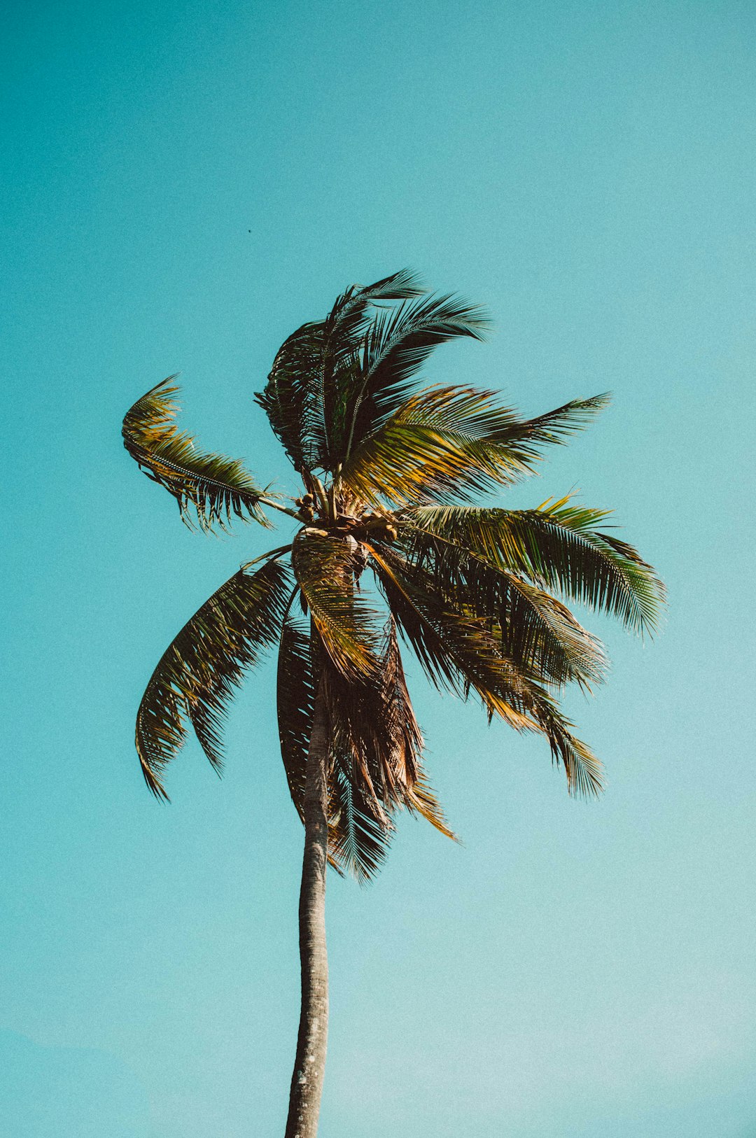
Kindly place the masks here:
POLYGON ((584 427, 605 403, 605 396, 575 399, 523 420, 493 391, 428 388, 360 443, 339 483, 371 504, 466 500, 532 472, 544 445, 584 427))

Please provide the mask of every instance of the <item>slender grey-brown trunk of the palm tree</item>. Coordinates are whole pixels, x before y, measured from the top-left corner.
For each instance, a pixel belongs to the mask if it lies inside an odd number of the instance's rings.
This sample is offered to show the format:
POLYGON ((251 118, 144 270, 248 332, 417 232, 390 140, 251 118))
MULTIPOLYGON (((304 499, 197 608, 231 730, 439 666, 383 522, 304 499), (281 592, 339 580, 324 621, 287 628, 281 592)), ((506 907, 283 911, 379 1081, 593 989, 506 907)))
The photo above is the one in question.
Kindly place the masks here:
POLYGON ((289 1092, 286 1138, 315 1138, 328 1039, 326 869, 328 866, 328 715, 318 690, 307 752, 304 795, 304 857, 299 890, 302 1011, 289 1092))

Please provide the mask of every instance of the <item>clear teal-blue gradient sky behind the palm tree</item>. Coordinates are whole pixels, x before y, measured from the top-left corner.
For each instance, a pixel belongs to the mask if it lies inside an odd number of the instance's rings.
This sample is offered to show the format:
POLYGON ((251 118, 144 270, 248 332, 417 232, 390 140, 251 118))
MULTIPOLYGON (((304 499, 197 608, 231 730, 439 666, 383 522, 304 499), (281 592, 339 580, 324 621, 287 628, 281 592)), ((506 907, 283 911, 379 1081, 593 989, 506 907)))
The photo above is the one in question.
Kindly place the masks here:
MULTIPOLYGON (((567 703, 608 766, 413 692, 465 844, 405 819, 332 879, 322 1138, 756 1135, 749 2, 14 6, 0 71, 2 956, 9 1138, 268 1138, 298 1014, 302 832, 273 675, 219 782, 148 794, 139 698, 278 544, 192 535, 121 447, 182 426, 294 487, 252 399, 280 341, 403 265, 491 308, 428 377, 611 409, 507 500, 580 490, 663 574, 663 634, 567 703)), ((286 527, 284 527, 286 530, 286 527)))

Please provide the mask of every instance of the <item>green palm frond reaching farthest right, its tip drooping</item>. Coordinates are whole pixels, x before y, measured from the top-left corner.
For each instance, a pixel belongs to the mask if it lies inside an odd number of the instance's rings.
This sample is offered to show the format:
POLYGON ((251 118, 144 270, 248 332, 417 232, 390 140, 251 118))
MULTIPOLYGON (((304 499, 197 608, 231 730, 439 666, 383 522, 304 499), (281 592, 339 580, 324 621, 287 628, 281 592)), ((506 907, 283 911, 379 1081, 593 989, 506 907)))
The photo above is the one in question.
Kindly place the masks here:
POLYGON ((658 625, 664 585, 636 550, 597 528, 606 510, 561 500, 537 510, 428 506, 405 516, 412 526, 618 617, 632 630, 651 634, 658 625))

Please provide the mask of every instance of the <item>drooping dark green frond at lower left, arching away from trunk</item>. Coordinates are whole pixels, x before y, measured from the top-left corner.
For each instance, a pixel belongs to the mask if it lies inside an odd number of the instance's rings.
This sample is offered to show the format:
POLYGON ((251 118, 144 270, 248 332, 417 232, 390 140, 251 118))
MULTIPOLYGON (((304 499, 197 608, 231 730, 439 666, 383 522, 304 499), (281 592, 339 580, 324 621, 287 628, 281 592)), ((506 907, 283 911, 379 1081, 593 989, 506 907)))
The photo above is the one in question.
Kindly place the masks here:
POLYGON ((282 546, 243 566, 187 621, 161 657, 137 714, 137 752, 147 785, 167 799, 162 774, 187 735, 187 719, 216 770, 229 700, 245 670, 278 640, 291 593, 282 546), (264 564, 252 572, 260 561, 264 564))

